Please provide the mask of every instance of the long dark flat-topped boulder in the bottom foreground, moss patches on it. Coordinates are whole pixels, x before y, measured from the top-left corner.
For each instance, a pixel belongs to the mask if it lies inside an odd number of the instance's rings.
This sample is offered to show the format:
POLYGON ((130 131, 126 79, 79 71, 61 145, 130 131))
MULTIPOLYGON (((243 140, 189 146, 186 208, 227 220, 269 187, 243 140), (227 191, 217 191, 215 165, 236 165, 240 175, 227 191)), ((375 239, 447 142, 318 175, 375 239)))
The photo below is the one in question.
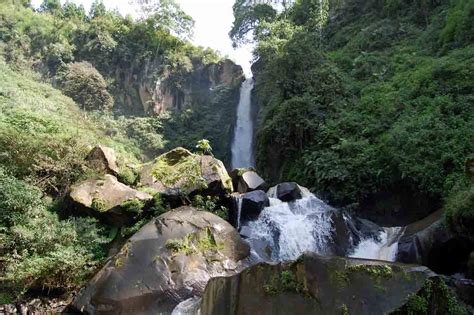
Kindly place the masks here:
POLYGON ((421 300, 443 314, 452 297, 443 285, 426 267, 306 253, 293 263, 258 264, 211 279, 201 313, 406 314, 407 304, 421 300))

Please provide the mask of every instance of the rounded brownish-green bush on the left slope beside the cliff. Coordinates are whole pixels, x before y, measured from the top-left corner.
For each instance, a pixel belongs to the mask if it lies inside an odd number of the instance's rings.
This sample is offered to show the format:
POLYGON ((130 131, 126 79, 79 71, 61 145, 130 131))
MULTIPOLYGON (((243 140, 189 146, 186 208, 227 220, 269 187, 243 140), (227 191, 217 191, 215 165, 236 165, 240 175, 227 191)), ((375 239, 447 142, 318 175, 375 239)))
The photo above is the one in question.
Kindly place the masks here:
POLYGON ((61 90, 84 110, 107 110, 114 100, 102 75, 88 62, 69 64, 59 74, 61 90))

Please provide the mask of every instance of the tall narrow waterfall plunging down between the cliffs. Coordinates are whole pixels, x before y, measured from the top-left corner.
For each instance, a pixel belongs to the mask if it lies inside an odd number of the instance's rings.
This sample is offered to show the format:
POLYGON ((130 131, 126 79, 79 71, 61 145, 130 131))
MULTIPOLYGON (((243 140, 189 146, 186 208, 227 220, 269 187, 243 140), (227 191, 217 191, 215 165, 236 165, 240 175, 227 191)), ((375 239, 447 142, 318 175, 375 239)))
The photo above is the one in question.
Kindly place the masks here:
POLYGON ((254 166, 253 158, 253 122, 251 110, 251 92, 253 79, 249 78, 240 87, 240 99, 237 107, 237 124, 232 142, 232 167, 254 166))

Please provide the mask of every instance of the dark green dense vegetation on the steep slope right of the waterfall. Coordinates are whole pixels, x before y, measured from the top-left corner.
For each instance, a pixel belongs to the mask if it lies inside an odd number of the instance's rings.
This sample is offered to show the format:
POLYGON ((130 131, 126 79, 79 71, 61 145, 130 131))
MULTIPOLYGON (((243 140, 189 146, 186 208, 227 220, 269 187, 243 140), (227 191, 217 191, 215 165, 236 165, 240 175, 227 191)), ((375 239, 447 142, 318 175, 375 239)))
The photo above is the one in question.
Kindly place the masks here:
POLYGON ((259 170, 386 224, 446 202, 473 222, 474 1, 245 3, 230 35, 257 41, 259 170))

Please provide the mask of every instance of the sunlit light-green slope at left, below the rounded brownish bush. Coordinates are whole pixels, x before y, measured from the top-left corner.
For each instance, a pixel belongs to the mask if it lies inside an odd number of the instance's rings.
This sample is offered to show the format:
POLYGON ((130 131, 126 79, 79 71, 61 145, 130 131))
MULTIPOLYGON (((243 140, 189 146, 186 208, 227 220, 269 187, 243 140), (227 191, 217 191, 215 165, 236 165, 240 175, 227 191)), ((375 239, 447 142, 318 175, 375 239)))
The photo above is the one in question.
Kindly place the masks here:
POLYGON ((53 194, 88 172, 84 158, 104 144, 134 160, 141 151, 125 138, 112 140, 59 91, 14 72, 0 60, 0 165, 53 194))

